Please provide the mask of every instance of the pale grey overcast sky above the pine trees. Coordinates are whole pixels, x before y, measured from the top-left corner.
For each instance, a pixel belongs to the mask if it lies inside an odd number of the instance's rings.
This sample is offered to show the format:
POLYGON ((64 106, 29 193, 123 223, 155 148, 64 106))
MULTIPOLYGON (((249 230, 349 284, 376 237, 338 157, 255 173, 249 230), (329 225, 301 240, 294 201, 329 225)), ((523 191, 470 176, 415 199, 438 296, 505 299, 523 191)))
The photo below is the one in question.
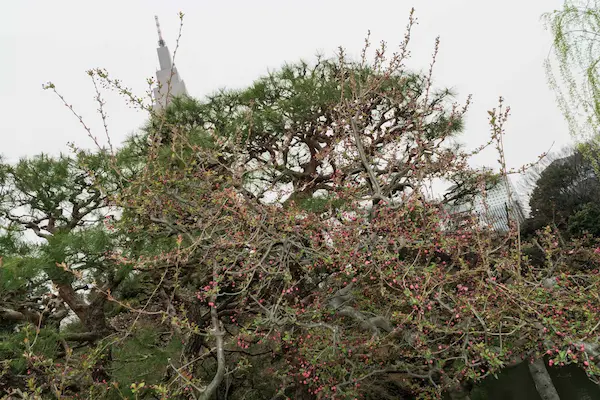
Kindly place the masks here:
MULTIPOLYGON (((487 110, 503 96, 512 116, 505 138, 509 167, 530 162, 570 141, 548 89, 543 62, 551 46, 540 16, 562 0, 396 1, 4 1, 0 5, 0 154, 14 161, 40 152, 68 151, 67 142, 92 147, 58 98, 42 90, 52 81, 103 136, 94 90, 85 71, 103 67, 143 94, 158 67, 154 15, 173 51, 177 13, 185 13, 176 58, 190 95, 239 88, 261 74, 338 46, 358 55, 371 30, 375 43, 396 46, 408 13, 416 8, 412 61, 428 67, 436 36, 441 50, 434 72, 438 86, 452 87, 458 100, 473 94, 462 142, 476 147, 489 138, 487 110)), ((145 115, 107 95, 109 129, 118 143, 138 129, 145 115)), ((486 153, 478 164, 495 166, 486 153)))

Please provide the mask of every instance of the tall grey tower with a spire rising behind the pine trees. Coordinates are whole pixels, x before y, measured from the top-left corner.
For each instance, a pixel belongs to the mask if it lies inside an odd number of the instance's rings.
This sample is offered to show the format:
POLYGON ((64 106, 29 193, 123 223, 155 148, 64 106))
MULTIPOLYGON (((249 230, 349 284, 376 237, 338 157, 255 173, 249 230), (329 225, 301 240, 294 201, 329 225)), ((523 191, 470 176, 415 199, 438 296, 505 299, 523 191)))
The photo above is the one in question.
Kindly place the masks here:
POLYGON ((187 95, 185 83, 181 80, 177 68, 171 61, 171 53, 165 45, 158 23, 158 16, 154 16, 156 21, 156 30, 158 31, 158 62, 160 69, 156 71, 157 87, 154 88, 154 109, 165 108, 171 99, 176 96, 187 95), (168 96, 167 96, 168 95, 168 96))

